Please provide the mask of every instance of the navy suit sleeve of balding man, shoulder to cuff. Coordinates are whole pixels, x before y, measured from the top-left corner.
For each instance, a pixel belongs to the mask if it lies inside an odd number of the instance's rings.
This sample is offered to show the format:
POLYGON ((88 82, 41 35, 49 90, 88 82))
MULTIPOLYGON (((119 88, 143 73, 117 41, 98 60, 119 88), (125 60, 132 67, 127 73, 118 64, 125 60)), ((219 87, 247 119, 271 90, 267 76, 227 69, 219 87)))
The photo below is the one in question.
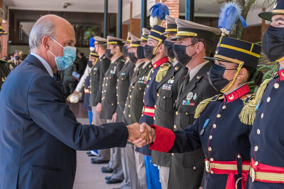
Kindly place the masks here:
POLYGON ((77 122, 59 85, 47 74, 33 79, 28 92, 28 111, 35 124, 73 149, 126 146, 128 131, 123 122, 99 126, 77 122))

